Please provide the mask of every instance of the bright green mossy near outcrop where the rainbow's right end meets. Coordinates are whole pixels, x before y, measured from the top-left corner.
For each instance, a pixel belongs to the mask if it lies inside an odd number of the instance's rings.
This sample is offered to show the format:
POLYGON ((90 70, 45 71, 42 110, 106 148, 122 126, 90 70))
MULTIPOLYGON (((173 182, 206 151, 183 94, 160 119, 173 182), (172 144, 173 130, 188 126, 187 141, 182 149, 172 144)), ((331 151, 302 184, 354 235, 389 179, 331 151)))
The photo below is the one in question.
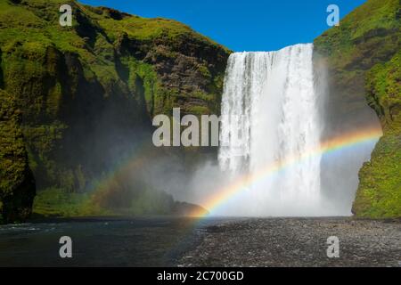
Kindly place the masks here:
POLYGON ((358 216, 401 216, 400 54, 374 66, 366 77, 368 102, 381 118, 384 135, 359 174, 353 207, 358 216))

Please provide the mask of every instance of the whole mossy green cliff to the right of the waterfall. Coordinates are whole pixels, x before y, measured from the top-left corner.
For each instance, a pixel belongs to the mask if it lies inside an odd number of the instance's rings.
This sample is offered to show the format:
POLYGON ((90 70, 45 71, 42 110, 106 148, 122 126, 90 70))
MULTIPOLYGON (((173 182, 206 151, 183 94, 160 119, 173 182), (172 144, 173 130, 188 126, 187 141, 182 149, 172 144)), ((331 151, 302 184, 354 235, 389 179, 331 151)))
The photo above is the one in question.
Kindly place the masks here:
POLYGON ((401 216, 400 17, 399 0, 368 0, 315 40, 319 60, 330 67, 334 130, 374 124, 367 102, 384 132, 360 171, 356 216, 401 216))

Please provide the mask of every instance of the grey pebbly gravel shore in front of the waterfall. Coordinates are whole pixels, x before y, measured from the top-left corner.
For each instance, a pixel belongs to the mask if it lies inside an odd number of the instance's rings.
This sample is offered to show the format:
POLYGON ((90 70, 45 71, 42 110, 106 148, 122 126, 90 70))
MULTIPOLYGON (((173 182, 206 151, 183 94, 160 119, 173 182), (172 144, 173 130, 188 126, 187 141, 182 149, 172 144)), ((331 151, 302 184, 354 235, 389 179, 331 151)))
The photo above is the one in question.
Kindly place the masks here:
POLYGON ((247 218, 210 225, 178 266, 401 266, 401 222, 335 218, 247 218), (329 258, 327 239, 339 238, 329 258))

